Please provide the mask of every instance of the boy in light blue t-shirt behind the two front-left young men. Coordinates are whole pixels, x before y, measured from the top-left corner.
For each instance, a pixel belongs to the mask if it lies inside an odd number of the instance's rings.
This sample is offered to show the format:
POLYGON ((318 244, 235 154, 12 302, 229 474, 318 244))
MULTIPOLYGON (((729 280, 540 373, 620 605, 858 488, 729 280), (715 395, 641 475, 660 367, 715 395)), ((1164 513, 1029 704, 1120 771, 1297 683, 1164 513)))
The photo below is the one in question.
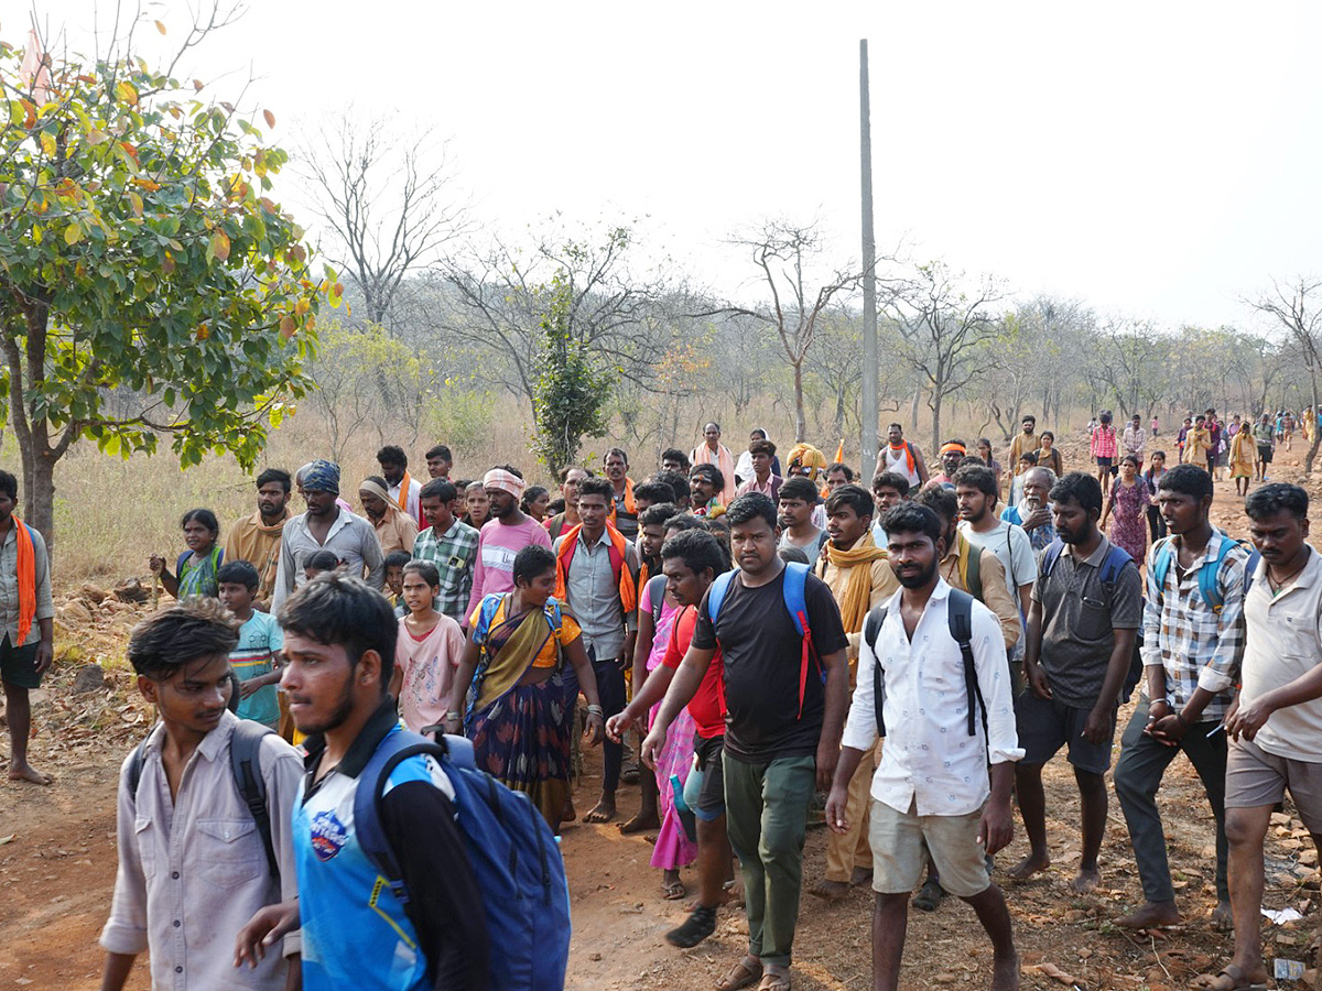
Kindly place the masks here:
POLYGON ((215 573, 215 580, 225 608, 243 624, 238 646, 230 651, 230 670, 239 679, 241 699, 234 715, 279 729, 280 702, 275 686, 280 682, 284 634, 271 613, 253 608, 262 579, 246 560, 231 560, 215 573))

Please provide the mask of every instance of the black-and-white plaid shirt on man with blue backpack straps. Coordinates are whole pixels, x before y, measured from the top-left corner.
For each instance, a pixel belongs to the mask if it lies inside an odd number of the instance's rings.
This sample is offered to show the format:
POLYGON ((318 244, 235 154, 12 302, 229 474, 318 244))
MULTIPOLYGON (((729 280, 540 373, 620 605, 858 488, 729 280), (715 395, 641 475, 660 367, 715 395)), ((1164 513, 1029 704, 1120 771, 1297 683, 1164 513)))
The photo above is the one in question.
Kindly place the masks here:
MULTIPOLYGON (((1179 573, 1179 538, 1158 540, 1147 552, 1147 589, 1144 605, 1144 667, 1166 669, 1166 698, 1179 711, 1195 688, 1214 694, 1199 721, 1220 721, 1235 696, 1240 662, 1244 659, 1244 566, 1248 554, 1237 544, 1231 547, 1216 575, 1222 610, 1216 613, 1203 601, 1198 589, 1198 572, 1207 562, 1216 560, 1222 540, 1229 538, 1212 532, 1203 556, 1179 573), (1170 544, 1171 562, 1166 583, 1157 587, 1154 562, 1157 551, 1170 544)), ((1144 695, 1147 682, 1144 680, 1144 695)))

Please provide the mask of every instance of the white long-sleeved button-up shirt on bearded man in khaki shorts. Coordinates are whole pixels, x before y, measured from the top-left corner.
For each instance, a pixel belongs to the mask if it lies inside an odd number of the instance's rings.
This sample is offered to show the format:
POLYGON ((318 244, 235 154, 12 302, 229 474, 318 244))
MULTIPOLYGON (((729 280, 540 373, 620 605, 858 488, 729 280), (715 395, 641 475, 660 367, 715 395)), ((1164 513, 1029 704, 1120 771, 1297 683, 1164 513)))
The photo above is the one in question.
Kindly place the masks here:
POLYGON ((976 719, 977 735, 968 735, 964 658, 947 618, 951 587, 937 579, 912 641, 900 617, 903 593, 896 592, 886 604, 876 653, 866 637, 859 643, 858 687, 841 743, 867 752, 876 741, 873 669, 880 657, 886 745, 873 776, 873 798, 900 813, 916 803, 919 815, 966 815, 981 809, 992 794, 988 761, 1003 764, 1023 757, 1014 728, 1001 622, 985 605, 973 603, 973 667, 988 707, 984 740, 981 716, 976 719))

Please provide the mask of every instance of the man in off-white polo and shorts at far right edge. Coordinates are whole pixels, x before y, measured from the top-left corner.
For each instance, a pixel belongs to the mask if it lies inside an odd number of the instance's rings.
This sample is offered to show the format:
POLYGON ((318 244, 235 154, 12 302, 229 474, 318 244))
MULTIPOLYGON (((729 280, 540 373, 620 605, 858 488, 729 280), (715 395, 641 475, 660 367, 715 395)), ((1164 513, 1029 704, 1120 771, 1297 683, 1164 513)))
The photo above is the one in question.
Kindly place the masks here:
POLYGON ((1263 555, 1244 595, 1243 688, 1225 715, 1225 838, 1235 955, 1219 987, 1266 987, 1260 936, 1263 842, 1290 790, 1322 847, 1322 555, 1305 542, 1309 495, 1273 482, 1245 501, 1263 555))

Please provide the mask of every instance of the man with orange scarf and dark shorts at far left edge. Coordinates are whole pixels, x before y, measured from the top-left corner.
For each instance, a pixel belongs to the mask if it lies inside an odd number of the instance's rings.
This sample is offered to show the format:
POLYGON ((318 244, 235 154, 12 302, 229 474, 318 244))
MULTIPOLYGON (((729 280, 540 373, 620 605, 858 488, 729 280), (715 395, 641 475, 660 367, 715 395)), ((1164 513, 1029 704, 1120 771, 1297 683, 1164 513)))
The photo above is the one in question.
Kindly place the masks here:
POLYGON ((0 682, 9 725, 9 780, 49 785, 49 774, 28 762, 32 702, 41 675, 56 657, 56 604, 50 597, 50 556, 40 532, 19 519, 19 480, 0 472, 0 682))

